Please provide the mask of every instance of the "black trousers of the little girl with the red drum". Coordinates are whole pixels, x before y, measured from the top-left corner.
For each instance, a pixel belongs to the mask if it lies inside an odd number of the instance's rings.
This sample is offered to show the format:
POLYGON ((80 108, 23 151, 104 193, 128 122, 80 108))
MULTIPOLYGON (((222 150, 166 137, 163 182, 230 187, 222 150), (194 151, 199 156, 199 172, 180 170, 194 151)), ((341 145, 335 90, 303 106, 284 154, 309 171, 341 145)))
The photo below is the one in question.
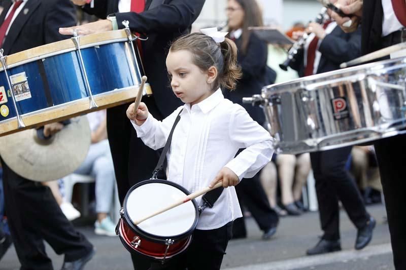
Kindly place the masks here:
POLYGON ((150 267, 137 270, 220 270, 228 241, 232 237, 232 222, 210 230, 196 229, 188 249, 164 264, 150 261, 150 267))

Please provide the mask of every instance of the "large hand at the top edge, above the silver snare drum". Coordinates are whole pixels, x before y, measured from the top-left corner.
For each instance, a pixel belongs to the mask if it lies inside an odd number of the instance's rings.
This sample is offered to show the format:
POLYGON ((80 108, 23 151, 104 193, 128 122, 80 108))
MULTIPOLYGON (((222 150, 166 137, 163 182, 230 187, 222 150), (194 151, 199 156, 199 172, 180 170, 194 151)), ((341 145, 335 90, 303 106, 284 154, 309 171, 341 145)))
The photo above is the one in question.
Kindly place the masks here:
POLYGON ((351 15, 351 17, 341 17, 337 13, 329 11, 330 17, 337 22, 341 29, 346 33, 357 30, 362 17, 363 0, 333 0, 331 2, 345 14, 351 15))

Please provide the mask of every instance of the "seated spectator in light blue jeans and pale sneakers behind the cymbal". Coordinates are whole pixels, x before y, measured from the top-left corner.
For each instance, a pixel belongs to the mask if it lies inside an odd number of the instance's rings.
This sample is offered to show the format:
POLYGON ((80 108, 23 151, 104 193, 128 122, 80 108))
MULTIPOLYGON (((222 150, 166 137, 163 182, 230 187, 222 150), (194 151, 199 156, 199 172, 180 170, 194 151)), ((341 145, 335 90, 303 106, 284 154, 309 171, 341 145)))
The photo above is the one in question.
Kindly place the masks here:
POLYGON ((95 234, 116 236, 116 226, 108 216, 113 201, 116 178, 109 141, 107 140, 106 110, 88 113, 87 118, 91 130, 91 145, 85 161, 75 173, 92 175, 96 179, 97 220, 94 224, 95 234))

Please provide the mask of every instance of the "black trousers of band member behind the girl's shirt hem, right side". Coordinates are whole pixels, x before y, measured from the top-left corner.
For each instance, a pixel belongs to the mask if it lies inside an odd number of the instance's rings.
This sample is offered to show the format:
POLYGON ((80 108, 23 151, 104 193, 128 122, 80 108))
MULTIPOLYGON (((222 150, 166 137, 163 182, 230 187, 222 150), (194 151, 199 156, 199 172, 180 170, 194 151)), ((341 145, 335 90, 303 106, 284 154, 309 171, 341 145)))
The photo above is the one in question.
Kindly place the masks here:
MULTIPOLYGON (((276 226, 279 216, 270 208, 268 198, 259 181, 259 173, 249 179, 243 179, 235 186, 240 207, 246 206, 251 212, 259 228, 263 231, 276 226)), ((232 234, 236 237, 247 236, 244 216, 234 220, 232 234)))

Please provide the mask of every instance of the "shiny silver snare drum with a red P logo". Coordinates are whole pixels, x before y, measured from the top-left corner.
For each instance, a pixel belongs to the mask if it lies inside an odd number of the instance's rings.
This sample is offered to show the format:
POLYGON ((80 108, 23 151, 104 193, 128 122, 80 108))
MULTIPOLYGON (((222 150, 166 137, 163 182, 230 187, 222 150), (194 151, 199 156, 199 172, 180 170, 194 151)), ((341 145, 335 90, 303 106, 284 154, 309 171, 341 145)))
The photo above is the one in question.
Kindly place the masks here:
POLYGON ((406 58, 326 72, 264 87, 260 103, 277 152, 364 143, 406 128, 406 58))

